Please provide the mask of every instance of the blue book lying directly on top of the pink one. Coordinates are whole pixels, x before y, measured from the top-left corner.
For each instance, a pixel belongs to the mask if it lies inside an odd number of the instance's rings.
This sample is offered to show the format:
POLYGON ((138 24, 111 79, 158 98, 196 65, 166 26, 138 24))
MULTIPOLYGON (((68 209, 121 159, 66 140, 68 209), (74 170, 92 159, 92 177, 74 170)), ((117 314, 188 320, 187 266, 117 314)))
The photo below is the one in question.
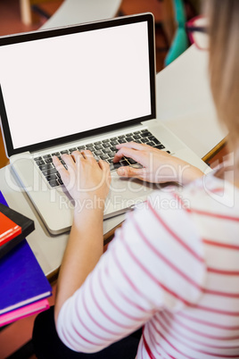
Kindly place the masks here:
MULTIPOLYGON (((1 192, 0 203, 6 205, 1 192)), ((52 295, 26 239, 0 259, 0 293, 0 315, 52 295)))

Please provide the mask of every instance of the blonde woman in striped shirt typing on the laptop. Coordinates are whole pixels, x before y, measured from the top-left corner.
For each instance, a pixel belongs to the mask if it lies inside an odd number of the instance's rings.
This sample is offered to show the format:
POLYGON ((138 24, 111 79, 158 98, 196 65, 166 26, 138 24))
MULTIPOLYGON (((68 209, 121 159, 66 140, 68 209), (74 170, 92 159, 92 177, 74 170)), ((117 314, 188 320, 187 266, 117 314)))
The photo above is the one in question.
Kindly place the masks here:
POLYGON ((239 357, 238 0, 207 1, 206 20, 191 32, 210 39, 211 89, 234 167, 203 177, 160 150, 119 145, 116 162, 127 155, 143 164, 119 175, 165 182, 173 172, 185 186, 154 193, 103 254, 109 167, 89 151, 63 155, 68 171, 55 158, 76 208, 54 316, 37 317, 38 358, 239 357), (90 210, 78 205, 90 202, 90 210))

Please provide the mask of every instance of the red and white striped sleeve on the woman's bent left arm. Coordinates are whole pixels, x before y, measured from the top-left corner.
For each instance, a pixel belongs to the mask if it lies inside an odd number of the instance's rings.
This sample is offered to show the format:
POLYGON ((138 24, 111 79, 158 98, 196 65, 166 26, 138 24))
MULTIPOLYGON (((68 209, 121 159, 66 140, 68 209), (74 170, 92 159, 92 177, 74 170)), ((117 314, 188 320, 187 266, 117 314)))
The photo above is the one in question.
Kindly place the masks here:
POLYGON ((94 271, 62 306, 57 331, 78 352, 126 337, 163 309, 196 304, 205 280, 202 240, 175 196, 157 192, 128 215, 94 271))

